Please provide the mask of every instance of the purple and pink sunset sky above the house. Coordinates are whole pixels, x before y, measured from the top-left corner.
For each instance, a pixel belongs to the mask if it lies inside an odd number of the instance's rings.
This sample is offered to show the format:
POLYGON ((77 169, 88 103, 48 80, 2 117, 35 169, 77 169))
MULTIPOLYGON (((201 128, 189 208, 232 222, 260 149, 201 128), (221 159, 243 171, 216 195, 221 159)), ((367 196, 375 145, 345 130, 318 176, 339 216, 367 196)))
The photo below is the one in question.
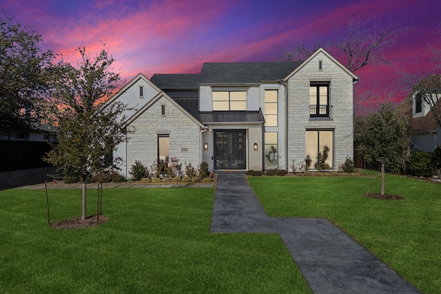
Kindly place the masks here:
POLYGON ((400 101, 402 74, 432 73, 427 46, 441 47, 439 0, 3 0, 0 8, 72 65, 76 48, 98 54, 105 44, 125 83, 139 73, 198 73, 204 62, 277 61, 280 48, 336 40, 356 18, 411 27, 384 51, 389 65, 356 72, 359 89, 400 101))

